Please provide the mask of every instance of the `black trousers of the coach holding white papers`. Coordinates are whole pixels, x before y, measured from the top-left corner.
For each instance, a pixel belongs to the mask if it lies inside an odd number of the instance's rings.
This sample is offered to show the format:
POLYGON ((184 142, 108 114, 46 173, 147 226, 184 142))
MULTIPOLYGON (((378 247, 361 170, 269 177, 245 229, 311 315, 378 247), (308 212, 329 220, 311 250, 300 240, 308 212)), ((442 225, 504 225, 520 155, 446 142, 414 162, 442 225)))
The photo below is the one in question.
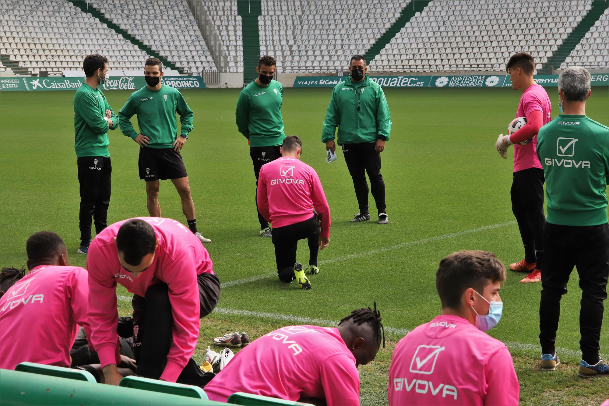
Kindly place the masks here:
POLYGON ((343 144, 342 150, 349 174, 353 178, 359 211, 368 213, 367 173, 376 208, 379 213, 387 213, 385 182, 381 175, 381 153, 375 151, 375 143, 343 144))

